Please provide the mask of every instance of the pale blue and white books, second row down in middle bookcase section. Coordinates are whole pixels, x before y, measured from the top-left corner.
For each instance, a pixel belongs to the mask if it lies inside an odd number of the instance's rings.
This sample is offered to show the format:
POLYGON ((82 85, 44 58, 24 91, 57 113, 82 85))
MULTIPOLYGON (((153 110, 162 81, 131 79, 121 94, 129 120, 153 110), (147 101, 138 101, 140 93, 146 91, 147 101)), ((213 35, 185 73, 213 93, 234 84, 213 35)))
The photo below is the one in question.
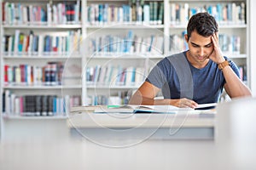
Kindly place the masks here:
POLYGON ((135 35, 105 35, 90 38, 90 51, 109 53, 163 54, 164 37, 152 34, 150 37, 135 35))

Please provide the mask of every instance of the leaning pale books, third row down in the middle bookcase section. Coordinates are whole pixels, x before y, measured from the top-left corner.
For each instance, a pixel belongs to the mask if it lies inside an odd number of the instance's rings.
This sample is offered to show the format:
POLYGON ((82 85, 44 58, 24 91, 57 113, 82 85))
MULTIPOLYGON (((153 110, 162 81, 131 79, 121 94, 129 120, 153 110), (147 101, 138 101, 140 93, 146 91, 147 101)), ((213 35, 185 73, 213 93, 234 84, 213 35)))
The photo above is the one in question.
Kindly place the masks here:
POLYGON ((86 68, 87 85, 138 86, 146 76, 144 67, 96 65, 86 68))

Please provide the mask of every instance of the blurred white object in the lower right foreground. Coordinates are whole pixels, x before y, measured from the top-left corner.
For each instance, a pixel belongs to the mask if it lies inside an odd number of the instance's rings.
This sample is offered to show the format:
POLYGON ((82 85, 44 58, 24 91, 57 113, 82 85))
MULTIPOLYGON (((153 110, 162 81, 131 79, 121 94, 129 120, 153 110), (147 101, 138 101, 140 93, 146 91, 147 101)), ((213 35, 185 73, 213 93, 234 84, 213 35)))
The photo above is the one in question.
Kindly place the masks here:
POLYGON ((217 107, 218 161, 228 169, 256 167, 256 98, 233 99, 217 107))

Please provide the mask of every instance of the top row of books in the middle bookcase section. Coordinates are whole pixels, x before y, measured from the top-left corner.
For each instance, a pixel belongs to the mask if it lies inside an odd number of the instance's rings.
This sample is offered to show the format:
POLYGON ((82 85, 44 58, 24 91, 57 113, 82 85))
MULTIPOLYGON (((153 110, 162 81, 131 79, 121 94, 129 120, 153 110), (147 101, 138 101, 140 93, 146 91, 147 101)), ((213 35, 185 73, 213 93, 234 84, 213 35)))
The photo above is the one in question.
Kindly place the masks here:
POLYGON ((87 9, 88 22, 91 25, 103 25, 120 22, 143 22, 161 25, 164 22, 164 3, 150 1, 131 4, 92 3, 87 9))

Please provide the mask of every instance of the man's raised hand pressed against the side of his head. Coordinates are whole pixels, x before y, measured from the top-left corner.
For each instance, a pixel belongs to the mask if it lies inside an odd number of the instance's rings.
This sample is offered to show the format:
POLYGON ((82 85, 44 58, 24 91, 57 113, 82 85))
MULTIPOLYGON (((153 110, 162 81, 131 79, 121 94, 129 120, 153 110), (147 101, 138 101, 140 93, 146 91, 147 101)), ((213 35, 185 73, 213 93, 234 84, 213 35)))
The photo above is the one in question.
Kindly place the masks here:
POLYGON ((222 63, 225 61, 225 59, 218 45, 218 32, 215 32, 211 38, 213 44, 213 51, 212 54, 210 54, 209 59, 212 59, 212 61, 217 64, 222 63))

